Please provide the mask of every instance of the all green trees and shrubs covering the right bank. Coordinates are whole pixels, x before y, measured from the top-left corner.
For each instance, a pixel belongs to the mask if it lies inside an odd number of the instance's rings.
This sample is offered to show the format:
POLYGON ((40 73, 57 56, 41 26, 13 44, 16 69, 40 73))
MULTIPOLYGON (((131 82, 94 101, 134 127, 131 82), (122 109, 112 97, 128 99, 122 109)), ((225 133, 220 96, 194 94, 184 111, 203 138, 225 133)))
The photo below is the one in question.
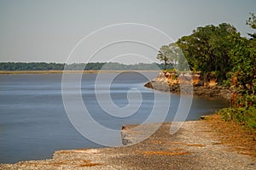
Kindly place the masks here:
MULTIPOLYGON (((255 15, 251 14, 246 23, 256 29, 255 15)), ((256 33, 248 35, 241 37, 234 26, 226 23, 198 27, 191 35, 162 46, 157 59, 164 65, 174 65, 177 72, 186 71, 186 59, 190 70, 201 72, 203 82, 216 81, 235 88, 230 108, 219 114, 225 121, 256 129, 256 33)))

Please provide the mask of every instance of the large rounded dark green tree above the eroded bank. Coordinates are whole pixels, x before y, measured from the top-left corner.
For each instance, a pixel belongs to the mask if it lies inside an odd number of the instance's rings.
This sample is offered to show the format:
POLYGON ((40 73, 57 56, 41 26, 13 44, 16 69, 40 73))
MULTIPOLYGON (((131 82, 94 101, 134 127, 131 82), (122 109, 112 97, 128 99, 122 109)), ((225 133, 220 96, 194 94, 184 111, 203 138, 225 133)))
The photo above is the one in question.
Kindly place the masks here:
POLYGON ((226 79, 225 72, 232 68, 228 37, 234 32, 236 28, 226 23, 198 27, 191 35, 179 38, 177 44, 193 71, 204 75, 214 71, 218 82, 222 82, 226 79))

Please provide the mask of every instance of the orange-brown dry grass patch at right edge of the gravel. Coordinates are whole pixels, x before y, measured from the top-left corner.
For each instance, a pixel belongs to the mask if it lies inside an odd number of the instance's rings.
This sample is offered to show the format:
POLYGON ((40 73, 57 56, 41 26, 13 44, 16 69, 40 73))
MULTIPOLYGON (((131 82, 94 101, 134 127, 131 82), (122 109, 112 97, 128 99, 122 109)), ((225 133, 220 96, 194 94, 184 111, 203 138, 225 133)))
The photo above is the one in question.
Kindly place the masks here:
POLYGON ((256 135, 246 130, 236 122, 224 122, 218 114, 210 116, 204 120, 208 122, 213 133, 221 141, 218 144, 227 144, 231 146, 231 150, 237 151, 243 155, 256 157, 256 135))

